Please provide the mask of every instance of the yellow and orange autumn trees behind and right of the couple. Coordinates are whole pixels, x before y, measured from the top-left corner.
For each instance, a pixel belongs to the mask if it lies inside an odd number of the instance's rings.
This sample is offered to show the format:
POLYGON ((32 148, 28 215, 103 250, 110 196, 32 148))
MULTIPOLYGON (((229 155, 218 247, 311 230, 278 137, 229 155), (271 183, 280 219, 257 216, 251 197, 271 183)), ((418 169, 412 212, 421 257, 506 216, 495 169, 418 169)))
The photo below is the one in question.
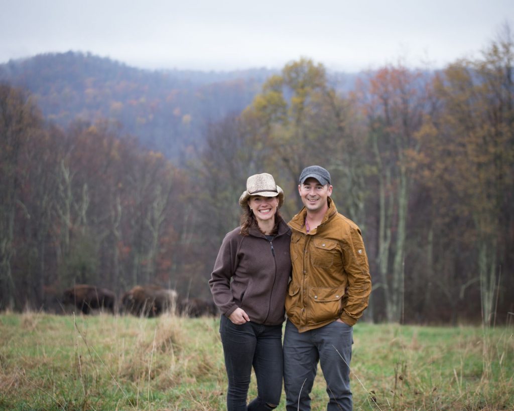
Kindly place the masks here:
POLYGON ((226 221, 216 235, 235 225, 237 186, 248 175, 273 173, 291 217, 300 170, 321 164, 338 210, 363 229, 374 284, 368 318, 490 324, 512 310, 511 276, 500 276, 514 251, 511 53, 510 39, 437 73, 386 66, 347 95, 322 65, 286 65, 230 128, 218 125, 224 131, 203 154, 217 189, 228 190, 219 202, 228 206, 210 208, 226 221))

